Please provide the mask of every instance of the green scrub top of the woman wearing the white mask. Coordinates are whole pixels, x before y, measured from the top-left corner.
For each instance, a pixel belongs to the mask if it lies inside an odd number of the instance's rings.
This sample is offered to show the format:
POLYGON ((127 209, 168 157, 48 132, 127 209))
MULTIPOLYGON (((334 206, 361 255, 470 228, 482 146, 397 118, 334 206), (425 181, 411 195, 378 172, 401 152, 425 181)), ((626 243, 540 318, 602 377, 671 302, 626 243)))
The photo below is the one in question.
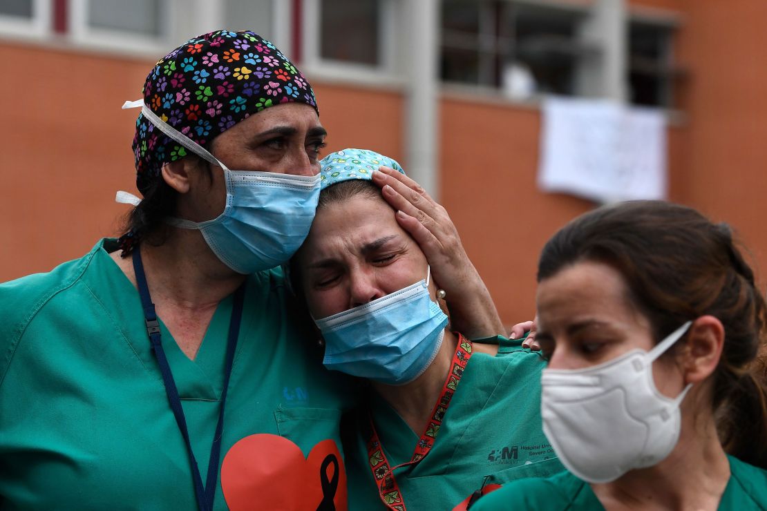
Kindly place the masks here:
MULTIPOLYGON (((767 510, 767 470, 728 456, 730 477, 719 501, 720 511, 767 510)), ((548 479, 528 479, 506 484, 482 496, 471 511, 535 509, 536 511, 592 511, 604 509, 588 483, 569 472, 548 479)))

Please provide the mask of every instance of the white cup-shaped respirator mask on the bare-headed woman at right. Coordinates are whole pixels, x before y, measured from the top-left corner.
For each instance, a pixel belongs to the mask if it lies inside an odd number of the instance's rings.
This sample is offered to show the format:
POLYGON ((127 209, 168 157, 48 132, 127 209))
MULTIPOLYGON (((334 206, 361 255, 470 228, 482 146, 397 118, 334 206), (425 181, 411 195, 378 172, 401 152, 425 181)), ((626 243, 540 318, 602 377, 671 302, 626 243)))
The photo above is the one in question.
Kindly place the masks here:
POLYGON ((633 349, 584 369, 543 370, 543 431, 571 473, 589 483, 609 483, 671 453, 679 441, 679 405, 692 384, 667 398, 655 387, 653 361, 691 324, 650 352, 633 349))

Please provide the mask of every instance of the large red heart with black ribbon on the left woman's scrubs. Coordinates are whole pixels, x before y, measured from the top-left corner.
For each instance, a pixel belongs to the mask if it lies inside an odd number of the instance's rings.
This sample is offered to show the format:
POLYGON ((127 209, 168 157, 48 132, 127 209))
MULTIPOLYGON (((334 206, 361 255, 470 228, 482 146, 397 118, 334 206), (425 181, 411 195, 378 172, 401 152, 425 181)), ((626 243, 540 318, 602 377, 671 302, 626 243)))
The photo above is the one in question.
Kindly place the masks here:
POLYGON ((346 511, 346 471, 331 439, 312 447, 275 434, 252 434, 232 445, 221 465, 221 489, 229 509, 346 511))

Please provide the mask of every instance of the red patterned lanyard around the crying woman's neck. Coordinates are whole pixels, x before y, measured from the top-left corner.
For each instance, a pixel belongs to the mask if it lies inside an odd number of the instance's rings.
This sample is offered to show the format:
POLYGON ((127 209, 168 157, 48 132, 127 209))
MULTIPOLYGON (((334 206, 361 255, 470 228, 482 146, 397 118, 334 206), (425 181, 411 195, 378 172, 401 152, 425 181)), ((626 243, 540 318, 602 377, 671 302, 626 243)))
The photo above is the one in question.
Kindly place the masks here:
POLYGON ((429 422, 426 424, 426 429, 421 434, 418 444, 416 444, 416 449, 413 451, 413 457, 410 461, 390 467, 389 460, 387 460, 386 454, 384 454, 384 447, 378 438, 378 433, 373 423, 373 416, 368 412, 370 440, 367 441, 367 459, 370 461, 370 470, 373 472, 373 477, 378 484, 378 493, 381 501, 389 509, 394 509, 395 511, 406 510, 405 501, 400 492, 400 486, 397 484, 397 480, 394 479, 393 471, 400 467, 416 464, 423 457, 426 457, 426 454, 429 454, 436 434, 439 432, 439 424, 442 424, 447 407, 450 405, 450 400, 453 399, 458 382, 461 381, 461 376, 463 376, 463 370, 466 369, 466 363, 469 362, 471 356, 472 342, 459 334, 456 354, 453 355, 453 364, 445 380, 445 385, 443 385, 442 394, 439 395, 439 399, 436 401, 436 405, 434 405, 429 422))

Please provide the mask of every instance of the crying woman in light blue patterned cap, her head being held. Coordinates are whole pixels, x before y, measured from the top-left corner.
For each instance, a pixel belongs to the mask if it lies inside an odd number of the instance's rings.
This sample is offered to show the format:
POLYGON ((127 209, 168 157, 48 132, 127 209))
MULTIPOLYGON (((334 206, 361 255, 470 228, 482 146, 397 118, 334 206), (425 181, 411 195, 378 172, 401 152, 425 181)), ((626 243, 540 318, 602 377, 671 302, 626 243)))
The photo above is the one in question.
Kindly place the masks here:
POLYGON ((541 428, 541 356, 448 323, 441 263, 370 182, 379 165, 402 172, 363 149, 322 159, 317 215, 291 264, 325 366, 369 382, 346 424, 350 509, 452 509, 483 482, 562 470, 541 428))

